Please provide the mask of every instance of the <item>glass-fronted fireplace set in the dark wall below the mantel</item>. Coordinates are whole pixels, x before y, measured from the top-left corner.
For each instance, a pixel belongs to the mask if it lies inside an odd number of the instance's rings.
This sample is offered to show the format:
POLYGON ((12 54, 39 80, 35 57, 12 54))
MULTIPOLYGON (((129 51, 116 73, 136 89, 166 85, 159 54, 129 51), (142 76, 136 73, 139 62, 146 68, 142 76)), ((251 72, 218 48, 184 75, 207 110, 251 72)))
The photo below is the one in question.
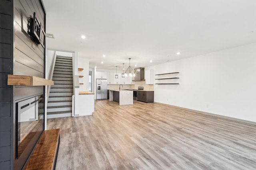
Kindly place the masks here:
POLYGON ((44 131, 44 95, 16 103, 14 169, 23 167, 44 131))

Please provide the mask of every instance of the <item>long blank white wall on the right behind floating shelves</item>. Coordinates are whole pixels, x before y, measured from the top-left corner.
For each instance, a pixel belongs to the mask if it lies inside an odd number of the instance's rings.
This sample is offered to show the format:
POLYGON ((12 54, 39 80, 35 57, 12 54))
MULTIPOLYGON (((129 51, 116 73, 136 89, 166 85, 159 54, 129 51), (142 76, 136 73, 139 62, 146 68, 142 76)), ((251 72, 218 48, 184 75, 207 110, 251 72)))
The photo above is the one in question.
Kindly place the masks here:
POLYGON ((146 69, 180 72, 179 85, 154 85, 155 102, 256 122, 256 43, 146 69))

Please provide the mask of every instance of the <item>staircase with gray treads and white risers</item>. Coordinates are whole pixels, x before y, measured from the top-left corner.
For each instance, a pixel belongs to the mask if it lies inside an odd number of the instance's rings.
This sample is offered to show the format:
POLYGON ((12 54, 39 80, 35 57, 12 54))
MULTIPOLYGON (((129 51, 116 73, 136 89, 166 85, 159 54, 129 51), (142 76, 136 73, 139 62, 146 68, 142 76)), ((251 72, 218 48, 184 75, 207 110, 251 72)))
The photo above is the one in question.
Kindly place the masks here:
POLYGON ((72 57, 56 56, 47 104, 47 118, 72 115, 73 70, 72 57))

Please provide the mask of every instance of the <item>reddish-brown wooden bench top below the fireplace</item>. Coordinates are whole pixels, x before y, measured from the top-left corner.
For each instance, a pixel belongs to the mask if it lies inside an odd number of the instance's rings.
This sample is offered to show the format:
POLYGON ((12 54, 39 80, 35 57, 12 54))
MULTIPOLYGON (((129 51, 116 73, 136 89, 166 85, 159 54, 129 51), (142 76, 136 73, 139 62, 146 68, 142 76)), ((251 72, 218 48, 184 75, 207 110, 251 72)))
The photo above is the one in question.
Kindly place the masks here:
POLYGON ((24 170, 55 169, 59 144, 60 129, 44 131, 30 158, 28 158, 24 170))

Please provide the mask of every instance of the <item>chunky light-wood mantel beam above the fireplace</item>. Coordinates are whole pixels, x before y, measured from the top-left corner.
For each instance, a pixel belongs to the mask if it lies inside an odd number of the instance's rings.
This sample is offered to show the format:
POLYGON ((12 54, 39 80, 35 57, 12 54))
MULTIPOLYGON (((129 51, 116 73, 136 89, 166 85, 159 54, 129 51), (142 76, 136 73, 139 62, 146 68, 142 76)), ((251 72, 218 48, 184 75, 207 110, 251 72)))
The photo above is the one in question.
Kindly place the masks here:
POLYGON ((8 75, 7 85, 12 86, 49 86, 54 85, 54 81, 35 76, 8 75))

